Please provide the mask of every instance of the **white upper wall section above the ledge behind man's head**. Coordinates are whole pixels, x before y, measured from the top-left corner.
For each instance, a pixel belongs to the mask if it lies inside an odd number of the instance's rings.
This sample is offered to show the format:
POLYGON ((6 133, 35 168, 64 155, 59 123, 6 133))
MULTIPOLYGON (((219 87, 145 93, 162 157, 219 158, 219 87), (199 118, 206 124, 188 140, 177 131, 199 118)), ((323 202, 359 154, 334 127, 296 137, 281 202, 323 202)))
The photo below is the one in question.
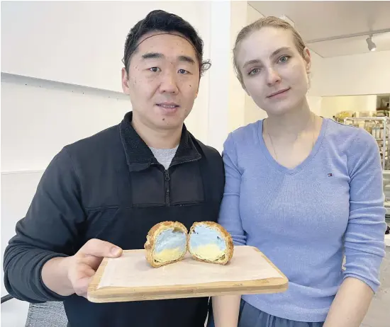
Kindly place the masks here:
POLYGON ((2 1, 1 71, 121 91, 126 36, 155 9, 182 16, 208 41, 207 1, 2 1))

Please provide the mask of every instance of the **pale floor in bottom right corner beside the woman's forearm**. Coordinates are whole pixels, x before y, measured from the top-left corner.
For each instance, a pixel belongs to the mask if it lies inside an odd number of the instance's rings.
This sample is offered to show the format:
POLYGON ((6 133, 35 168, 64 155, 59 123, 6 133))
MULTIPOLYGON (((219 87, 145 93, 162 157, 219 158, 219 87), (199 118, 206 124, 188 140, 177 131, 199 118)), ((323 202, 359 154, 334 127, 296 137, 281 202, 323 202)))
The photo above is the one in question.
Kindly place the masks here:
POLYGON ((381 265, 381 287, 372 300, 361 327, 390 326, 390 246, 381 265))

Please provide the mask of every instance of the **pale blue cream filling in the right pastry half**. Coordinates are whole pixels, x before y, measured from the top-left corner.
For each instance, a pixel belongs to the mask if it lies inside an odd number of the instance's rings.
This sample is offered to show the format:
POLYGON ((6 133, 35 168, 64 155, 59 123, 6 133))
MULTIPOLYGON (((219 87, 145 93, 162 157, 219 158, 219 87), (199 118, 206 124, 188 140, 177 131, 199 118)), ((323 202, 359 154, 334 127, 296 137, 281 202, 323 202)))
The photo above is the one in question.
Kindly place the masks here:
POLYGON ((206 225, 198 225, 194 228, 191 237, 189 238, 189 246, 191 247, 191 250, 196 250, 196 248, 213 244, 218 246, 221 252, 224 252, 226 249, 225 240, 222 239, 221 233, 216 229, 211 229, 206 225))

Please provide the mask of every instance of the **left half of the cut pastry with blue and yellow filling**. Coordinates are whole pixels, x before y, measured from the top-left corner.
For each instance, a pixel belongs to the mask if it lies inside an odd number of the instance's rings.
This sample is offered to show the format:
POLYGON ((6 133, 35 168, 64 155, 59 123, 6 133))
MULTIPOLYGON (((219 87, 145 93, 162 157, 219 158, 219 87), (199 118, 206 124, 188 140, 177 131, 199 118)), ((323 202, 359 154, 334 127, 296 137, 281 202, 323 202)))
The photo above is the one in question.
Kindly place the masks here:
POLYGON ((146 260, 154 268, 182 260, 188 249, 187 234, 186 226, 180 222, 156 224, 146 236, 146 260))

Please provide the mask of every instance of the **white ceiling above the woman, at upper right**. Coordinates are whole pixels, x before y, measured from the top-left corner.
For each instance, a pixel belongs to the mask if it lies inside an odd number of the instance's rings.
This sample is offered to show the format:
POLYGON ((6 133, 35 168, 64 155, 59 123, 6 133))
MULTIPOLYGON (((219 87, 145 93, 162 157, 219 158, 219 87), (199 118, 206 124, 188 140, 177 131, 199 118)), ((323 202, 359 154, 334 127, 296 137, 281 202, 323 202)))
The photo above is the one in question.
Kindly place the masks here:
MULTIPOLYGON (((390 1, 248 1, 263 16, 287 16, 321 57, 369 52, 370 31, 390 30, 390 1), (311 42, 346 35, 367 35, 311 42)), ((374 34, 377 51, 390 50, 390 31, 374 34)))

